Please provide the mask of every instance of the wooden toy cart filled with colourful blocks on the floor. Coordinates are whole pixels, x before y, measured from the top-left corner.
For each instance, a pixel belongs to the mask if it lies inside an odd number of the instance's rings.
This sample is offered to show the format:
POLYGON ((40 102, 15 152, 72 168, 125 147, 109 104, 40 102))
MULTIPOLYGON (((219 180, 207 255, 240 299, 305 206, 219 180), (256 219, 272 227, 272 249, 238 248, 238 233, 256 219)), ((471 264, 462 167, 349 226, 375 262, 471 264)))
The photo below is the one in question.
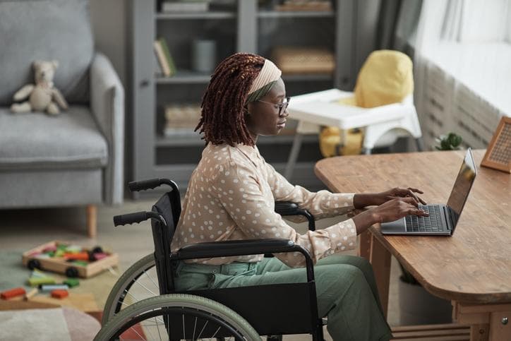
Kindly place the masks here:
MULTIPOLYGON (((92 249, 82 248, 65 241, 50 241, 36 248, 23 253, 23 265, 31 270, 40 269, 63 273, 68 277, 87 278, 101 273, 119 263, 117 253, 104 251, 101 247, 95 246, 92 249), (44 253, 47 251, 47 253, 44 253), (104 253, 99 259, 94 257, 95 253, 104 253)), ((34 276, 32 276, 34 277, 34 276)), ((54 284, 54 282, 37 282, 33 284, 54 284)))

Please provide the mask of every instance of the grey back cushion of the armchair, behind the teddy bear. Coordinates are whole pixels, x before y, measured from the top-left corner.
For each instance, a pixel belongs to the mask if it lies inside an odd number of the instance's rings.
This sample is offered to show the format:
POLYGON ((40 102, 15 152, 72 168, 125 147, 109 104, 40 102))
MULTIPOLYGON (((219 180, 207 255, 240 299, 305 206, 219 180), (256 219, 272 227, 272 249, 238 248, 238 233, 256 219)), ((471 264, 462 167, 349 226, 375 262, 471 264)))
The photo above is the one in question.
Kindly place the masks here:
POLYGON ((70 103, 88 102, 94 53, 88 0, 0 1, 0 105, 34 82, 32 62, 59 61, 54 83, 70 103))

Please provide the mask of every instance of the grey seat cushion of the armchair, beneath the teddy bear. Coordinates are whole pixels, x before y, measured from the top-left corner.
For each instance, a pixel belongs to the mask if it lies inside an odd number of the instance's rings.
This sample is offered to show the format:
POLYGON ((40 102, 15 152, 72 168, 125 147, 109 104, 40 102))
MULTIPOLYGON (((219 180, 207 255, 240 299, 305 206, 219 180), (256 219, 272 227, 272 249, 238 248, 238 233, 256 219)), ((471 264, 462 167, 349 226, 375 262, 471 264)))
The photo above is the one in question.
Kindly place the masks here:
POLYGON ((107 140, 87 107, 71 106, 65 114, 12 114, 0 107, 0 170, 104 167, 107 140))

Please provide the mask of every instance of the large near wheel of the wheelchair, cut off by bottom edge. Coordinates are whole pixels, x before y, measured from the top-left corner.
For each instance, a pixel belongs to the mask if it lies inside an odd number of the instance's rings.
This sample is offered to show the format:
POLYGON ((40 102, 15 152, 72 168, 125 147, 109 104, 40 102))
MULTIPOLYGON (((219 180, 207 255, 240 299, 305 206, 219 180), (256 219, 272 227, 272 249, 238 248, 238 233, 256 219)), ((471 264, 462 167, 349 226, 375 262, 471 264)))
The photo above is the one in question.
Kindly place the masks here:
POLYGON ((205 297, 168 294, 122 309, 97 333, 105 340, 261 340, 232 309, 205 297))

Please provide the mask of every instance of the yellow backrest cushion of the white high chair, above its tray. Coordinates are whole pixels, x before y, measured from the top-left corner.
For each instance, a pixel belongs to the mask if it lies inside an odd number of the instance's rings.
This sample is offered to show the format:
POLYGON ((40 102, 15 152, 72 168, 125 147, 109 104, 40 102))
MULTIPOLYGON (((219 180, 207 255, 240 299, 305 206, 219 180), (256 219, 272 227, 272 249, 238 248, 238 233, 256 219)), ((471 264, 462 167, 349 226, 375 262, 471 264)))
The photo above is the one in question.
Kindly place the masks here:
POLYGON ((372 52, 356 80, 355 100, 358 107, 373 108, 401 102, 414 91, 411 59, 399 51, 372 52))

